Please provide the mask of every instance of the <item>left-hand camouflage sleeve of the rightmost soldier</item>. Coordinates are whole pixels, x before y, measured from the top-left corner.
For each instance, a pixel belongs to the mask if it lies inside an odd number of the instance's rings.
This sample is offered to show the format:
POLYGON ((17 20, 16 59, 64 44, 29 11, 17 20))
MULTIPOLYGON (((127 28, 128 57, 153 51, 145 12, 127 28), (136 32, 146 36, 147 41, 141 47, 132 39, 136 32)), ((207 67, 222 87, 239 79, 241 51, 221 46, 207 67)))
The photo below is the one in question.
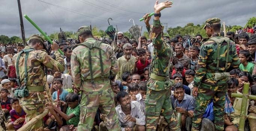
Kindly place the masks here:
POLYGON ((198 87, 206 74, 206 61, 208 58, 208 49, 202 44, 199 54, 199 60, 196 67, 196 75, 194 77, 194 87, 198 87))

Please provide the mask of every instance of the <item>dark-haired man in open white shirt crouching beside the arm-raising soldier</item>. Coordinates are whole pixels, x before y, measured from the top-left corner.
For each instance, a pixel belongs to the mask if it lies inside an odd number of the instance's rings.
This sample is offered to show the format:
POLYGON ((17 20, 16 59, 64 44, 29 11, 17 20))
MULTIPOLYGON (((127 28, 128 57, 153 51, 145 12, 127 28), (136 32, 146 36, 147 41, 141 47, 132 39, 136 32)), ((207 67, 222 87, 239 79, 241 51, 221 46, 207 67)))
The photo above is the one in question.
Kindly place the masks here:
POLYGON ((145 131, 145 113, 137 101, 131 101, 128 93, 120 91, 117 93, 116 113, 122 131, 145 131))

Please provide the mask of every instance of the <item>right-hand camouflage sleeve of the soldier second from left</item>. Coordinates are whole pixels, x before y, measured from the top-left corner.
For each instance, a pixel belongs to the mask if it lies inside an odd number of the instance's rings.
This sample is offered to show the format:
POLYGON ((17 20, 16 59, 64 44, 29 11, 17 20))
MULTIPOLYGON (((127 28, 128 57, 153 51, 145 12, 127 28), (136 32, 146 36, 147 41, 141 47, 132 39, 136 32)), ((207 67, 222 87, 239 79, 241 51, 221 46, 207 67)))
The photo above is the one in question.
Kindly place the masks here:
MULTIPOLYGON (((109 46, 110 47, 110 46, 109 46)), ((112 48, 109 48, 108 49, 108 53, 109 53, 109 60, 111 61, 111 69, 110 69, 110 76, 112 75, 116 75, 119 68, 118 68, 118 65, 117 65, 117 59, 116 59, 116 56, 114 54, 114 51, 112 48)))

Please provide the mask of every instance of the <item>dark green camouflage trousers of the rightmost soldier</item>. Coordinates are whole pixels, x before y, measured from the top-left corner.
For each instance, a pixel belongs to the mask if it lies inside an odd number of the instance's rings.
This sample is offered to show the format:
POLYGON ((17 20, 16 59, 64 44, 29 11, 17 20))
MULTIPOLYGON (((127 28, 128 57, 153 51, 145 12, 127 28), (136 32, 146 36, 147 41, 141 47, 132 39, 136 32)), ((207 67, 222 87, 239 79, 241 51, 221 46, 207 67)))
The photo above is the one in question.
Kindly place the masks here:
MULTIPOLYGON (((208 73, 206 73, 206 76, 208 73)), ((196 108, 192 119, 192 131, 200 131, 202 116, 211 98, 213 98, 214 124, 216 131, 224 130, 224 104, 227 92, 226 79, 214 81, 203 79, 198 88, 196 97, 196 108)))

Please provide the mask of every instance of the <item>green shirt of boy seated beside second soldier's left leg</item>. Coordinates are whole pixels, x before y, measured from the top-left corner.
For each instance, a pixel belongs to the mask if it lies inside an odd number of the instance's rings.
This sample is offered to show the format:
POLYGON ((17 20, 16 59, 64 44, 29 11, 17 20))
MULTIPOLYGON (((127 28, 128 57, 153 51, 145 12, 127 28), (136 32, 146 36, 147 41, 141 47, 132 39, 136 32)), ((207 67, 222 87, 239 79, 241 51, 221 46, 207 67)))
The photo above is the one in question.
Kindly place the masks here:
POLYGON ((67 108, 66 115, 74 114, 75 116, 71 119, 69 119, 66 123, 67 125, 74 125, 77 127, 78 122, 80 121, 80 104, 77 105, 74 109, 71 109, 70 107, 67 108))

